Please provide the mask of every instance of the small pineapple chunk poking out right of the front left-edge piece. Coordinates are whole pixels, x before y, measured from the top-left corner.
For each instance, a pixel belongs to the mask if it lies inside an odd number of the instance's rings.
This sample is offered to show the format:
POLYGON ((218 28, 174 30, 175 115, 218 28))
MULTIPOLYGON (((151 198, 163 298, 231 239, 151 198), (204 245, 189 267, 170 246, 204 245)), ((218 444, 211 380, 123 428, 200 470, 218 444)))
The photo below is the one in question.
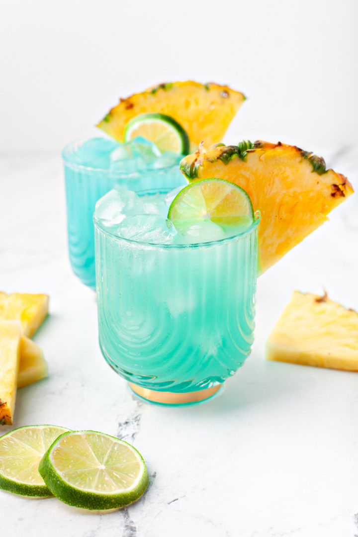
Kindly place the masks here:
POLYGON ((48 366, 39 345, 26 336, 20 340, 20 365, 17 387, 24 388, 48 375, 48 366))

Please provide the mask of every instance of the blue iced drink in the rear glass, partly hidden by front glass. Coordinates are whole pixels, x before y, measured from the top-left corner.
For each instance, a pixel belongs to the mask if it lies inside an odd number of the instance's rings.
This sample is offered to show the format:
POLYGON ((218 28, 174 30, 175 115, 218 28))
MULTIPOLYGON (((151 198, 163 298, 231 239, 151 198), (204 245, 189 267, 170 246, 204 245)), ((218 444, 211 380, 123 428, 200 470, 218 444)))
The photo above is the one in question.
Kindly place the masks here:
POLYGON ((77 277, 94 289, 92 218, 97 200, 115 184, 134 191, 183 184, 178 166, 182 157, 160 154, 154 144, 138 138, 126 144, 106 138, 74 142, 65 147, 62 157, 70 263, 77 277))

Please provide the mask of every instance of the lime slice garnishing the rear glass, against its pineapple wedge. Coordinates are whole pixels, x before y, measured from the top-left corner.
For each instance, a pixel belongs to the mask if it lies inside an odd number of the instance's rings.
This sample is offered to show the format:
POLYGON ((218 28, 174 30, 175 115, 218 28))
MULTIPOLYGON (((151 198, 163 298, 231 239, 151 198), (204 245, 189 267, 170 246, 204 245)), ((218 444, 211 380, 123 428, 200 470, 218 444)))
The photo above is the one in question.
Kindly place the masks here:
POLYGON ((169 115, 137 115, 126 126, 125 142, 129 142, 137 136, 143 136, 143 138, 154 142, 162 153, 165 151, 173 151, 179 155, 189 153, 190 144, 187 133, 169 115))

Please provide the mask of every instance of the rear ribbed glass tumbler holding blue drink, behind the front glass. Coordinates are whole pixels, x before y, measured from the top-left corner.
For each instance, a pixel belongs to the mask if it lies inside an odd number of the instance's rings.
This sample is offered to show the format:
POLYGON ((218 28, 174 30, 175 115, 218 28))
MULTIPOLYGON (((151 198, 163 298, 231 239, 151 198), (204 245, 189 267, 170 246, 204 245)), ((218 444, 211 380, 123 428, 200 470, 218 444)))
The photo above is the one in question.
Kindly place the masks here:
POLYGON ((185 184, 179 161, 166 168, 134 170, 97 169, 76 162, 76 151, 82 142, 64 148, 64 178, 67 205, 68 249, 72 270, 83 284, 96 288, 94 269, 93 212, 97 201, 114 185, 138 191, 165 185, 175 188, 185 184))

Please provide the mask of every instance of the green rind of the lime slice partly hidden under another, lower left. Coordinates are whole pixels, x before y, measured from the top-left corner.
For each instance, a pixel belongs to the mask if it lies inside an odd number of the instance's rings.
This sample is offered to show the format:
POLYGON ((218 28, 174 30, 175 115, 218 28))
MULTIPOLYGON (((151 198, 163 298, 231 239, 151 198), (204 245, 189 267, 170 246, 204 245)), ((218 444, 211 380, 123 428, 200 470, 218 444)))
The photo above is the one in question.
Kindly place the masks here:
MULTIPOLYGON (((50 427, 53 429, 57 429, 59 431, 68 432, 68 429, 65 429, 65 427, 59 427, 57 425, 25 425, 23 427, 17 427, 17 429, 13 429, 12 431, 9 431, 8 433, 3 434, 0 437, 0 444, 3 441, 4 438, 11 438, 14 433, 17 433, 21 430, 43 430, 45 427, 50 427)), ((60 434, 60 433, 59 433, 60 434)), ((26 444, 27 448, 31 448, 30 445, 26 444)), ((25 450, 24 446, 24 450, 25 450)), ((20 458, 20 454, 18 455, 20 458)), ((2 460, 4 460, 5 457, 2 457, 2 460)), ((37 476, 36 476, 37 477, 37 476)), ((31 484, 31 483, 24 483, 16 478, 10 478, 6 475, 4 475, 4 471, 0 469, 0 489, 6 490, 8 492, 12 492, 12 494, 16 494, 18 496, 28 497, 28 498, 47 498, 52 497, 52 492, 47 488, 46 484, 31 484)))

